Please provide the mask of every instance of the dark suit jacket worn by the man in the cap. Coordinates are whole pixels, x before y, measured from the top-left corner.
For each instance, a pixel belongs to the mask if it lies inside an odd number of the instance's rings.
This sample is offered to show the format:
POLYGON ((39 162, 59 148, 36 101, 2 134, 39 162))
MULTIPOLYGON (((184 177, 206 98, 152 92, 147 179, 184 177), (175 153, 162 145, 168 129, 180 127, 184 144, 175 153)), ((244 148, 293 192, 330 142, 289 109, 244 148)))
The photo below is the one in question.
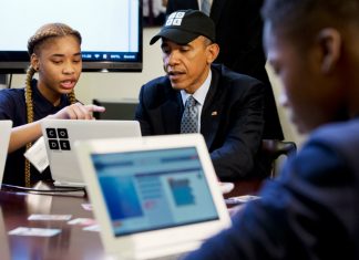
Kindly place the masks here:
MULTIPOLYGON (((258 150, 264 128, 263 83, 212 65, 212 83, 201 116, 201 133, 222 180, 267 175, 258 150)), ((167 76, 143 85, 136 119, 143 135, 178 134, 183 113, 181 92, 167 76)))

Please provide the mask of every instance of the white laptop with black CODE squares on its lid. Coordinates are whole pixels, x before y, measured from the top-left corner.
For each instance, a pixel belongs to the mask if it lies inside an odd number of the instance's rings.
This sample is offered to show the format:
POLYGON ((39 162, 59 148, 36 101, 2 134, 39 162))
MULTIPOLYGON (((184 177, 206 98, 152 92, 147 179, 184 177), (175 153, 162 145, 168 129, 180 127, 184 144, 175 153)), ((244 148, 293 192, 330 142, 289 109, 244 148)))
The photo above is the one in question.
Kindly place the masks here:
POLYGON ((44 119, 41 123, 55 186, 83 187, 74 142, 91 138, 140 137, 137 121, 44 119))

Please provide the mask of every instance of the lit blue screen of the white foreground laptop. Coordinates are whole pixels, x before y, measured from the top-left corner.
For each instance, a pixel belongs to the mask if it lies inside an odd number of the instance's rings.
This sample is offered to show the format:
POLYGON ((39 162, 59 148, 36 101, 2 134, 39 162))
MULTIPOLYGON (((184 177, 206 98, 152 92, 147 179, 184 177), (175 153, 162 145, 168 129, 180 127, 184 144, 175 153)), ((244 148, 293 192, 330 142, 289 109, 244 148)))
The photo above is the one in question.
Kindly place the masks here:
POLYGON ((196 147, 91 157, 116 237, 219 218, 196 147))

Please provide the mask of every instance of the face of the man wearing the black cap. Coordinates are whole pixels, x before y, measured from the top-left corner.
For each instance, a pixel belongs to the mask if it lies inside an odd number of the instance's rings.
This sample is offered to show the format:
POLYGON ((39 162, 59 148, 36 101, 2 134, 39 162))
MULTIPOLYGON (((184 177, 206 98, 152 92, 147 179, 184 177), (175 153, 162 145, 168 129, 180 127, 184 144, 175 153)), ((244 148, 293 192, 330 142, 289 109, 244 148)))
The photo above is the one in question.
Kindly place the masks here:
POLYGON ((192 94, 203 84, 215 59, 212 50, 214 45, 208 44, 203 37, 185 45, 162 40, 163 65, 173 89, 192 94))

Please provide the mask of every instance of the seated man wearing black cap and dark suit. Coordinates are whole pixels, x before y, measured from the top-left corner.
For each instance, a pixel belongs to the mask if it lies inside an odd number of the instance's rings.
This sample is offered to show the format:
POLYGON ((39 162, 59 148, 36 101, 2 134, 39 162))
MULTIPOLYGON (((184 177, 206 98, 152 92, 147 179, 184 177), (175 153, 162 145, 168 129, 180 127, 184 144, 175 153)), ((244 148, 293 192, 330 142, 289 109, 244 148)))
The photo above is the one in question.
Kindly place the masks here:
POLYGON ((143 85, 136 119, 143 135, 178 134, 184 104, 193 96, 198 128, 220 180, 266 176, 259 155, 264 86, 256 79, 213 65, 219 52, 211 18, 195 10, 172 13, 161 32, 166 76, 143 85))

